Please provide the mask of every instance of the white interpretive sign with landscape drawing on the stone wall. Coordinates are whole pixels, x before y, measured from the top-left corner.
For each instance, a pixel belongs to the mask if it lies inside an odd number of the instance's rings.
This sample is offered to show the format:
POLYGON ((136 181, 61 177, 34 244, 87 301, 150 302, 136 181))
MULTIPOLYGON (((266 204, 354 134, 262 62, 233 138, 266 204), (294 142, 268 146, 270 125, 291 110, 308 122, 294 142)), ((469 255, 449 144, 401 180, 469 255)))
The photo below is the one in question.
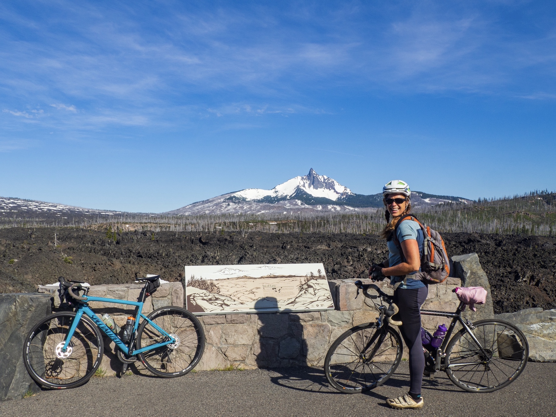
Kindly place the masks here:
POLYGON ((322 264, 186 266, 195 315, 334 310, 322 264))

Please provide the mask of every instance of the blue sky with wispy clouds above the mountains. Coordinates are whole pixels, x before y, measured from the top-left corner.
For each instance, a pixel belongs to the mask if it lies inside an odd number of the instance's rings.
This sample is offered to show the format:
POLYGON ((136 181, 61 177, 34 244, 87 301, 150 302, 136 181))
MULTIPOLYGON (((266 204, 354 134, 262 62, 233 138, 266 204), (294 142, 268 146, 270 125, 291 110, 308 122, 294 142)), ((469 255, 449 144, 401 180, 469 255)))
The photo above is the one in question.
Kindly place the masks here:
POLYGON ((0 4, 0 195, 161 212, 309 168, 556 183, 556 3, 0 4))

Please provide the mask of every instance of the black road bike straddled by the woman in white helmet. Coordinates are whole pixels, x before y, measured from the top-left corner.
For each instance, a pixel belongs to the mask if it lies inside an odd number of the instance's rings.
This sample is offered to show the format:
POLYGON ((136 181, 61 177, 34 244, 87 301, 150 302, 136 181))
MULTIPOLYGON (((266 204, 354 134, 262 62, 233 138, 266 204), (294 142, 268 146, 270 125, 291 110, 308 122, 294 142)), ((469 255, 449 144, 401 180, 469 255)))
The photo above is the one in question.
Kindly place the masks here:
MULTIPOLYGON (((326 378, 341 393, 355 394, 385 383, 401 362, 403 344, 391 317, 397 312, 393 297, 374 284, 355 285, 379 310, 376 322, 364 323, 345 331, 334 341, 324 362, 326 378), (368 294, 372 288, 378 295, 368 294), (388 307, 384 305, 388 304, 388 307)), ((523 333, 502 320, 471 323, 461 317, 464 303, 455 312, 421 310, 421 315, 451 318, 442 345, 426 353, 426 373, 445 371, 459 388, 473 393, 491 393, 511 384, 523 371, 529 358, 529 345, 523 333), (461 330, 451 337, 455 326, 461 330), (450 339, 451 337, 451 339, 450 339)))

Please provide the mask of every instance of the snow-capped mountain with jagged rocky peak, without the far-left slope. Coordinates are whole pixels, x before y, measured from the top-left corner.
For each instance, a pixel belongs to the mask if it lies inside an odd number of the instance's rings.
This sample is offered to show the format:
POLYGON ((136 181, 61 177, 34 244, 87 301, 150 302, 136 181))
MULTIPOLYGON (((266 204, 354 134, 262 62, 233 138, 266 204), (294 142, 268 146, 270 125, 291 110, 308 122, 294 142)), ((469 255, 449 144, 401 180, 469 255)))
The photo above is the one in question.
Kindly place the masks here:
MULTIPOLYGON (((361 212, 375 210, 383 206, 381 193, 373 195, 356 194, 336 180, 318 175, 312 168, 304 176, 297 176, 283 182, 272 190, 246 188, 221 196, 198 201, 181 209, 169 211, 170 215, 200 214, 297 214, 300 212, 361 212)), ((443 202, 470 202, 466 198, 436 196, 423 192, 413 192, 411 203, 414 207, 430 206, 443 202)))

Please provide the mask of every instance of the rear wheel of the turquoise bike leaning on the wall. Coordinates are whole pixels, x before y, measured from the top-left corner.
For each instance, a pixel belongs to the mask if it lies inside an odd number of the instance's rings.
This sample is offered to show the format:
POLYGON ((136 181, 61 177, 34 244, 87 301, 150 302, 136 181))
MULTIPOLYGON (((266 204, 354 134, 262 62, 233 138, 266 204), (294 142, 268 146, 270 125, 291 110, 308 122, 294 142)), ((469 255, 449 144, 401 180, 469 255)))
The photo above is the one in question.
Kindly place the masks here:
MULTIPOLYGON (((182 376, 195 368, 205 350, 205 332, 197 317, 181 307, 167 306, 153 311, 148 319, 178 342, 138 354, 145 368, 162 378, 182 376)), ((143 320, 137 333, 137 349, 162 341, 165 337, 143 320)))

